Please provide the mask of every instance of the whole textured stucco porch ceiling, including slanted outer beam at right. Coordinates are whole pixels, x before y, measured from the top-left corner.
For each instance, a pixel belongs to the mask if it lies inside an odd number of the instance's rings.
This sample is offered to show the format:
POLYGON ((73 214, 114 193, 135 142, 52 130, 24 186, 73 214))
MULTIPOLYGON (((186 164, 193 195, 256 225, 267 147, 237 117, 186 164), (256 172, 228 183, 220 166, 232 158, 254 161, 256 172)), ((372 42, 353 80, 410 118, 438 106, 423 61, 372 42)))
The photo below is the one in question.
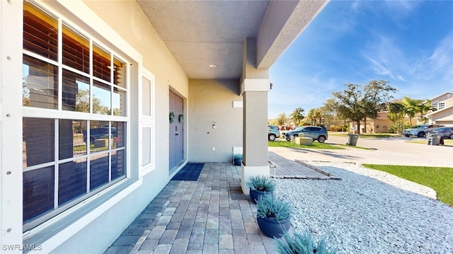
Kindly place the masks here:
POLYGON ((257 39, 258 67, 267 69, 326 0, 137 3, 189 79, 239 79, 246 37, 257 39))

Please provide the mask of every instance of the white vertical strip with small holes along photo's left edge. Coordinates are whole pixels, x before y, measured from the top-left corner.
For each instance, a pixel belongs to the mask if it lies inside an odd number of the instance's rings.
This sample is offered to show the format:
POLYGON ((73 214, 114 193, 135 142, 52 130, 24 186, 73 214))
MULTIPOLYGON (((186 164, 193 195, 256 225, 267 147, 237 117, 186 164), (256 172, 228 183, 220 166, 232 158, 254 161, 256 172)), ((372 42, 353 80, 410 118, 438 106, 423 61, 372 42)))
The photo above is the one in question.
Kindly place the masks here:
POLYGON ((8 144, 0 147, 0 243, 22 246, 23 1, 0 1, 0 10, 0 141, 8 144))

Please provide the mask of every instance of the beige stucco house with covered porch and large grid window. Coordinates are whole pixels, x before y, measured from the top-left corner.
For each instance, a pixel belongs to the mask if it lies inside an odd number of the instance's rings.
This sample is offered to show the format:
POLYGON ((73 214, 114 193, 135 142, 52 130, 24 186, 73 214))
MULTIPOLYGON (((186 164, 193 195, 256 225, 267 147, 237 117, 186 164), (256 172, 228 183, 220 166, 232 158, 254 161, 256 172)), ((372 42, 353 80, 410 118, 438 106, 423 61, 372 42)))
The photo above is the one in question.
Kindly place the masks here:
POLYGON ((0 1, 1 253, 102 253, 188 161, 268 173, 268 70, 327 1, 0 1))

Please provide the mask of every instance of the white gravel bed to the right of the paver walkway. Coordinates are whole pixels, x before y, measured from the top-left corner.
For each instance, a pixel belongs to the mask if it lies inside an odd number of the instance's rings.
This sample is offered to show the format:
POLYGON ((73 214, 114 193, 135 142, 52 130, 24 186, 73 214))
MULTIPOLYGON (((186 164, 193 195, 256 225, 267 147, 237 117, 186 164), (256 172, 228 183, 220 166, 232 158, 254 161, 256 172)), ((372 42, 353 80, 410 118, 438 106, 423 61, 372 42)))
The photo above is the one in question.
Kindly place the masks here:
POLYGON ((353 163, 309 163, 342 180, 275 180, 296 231, 310 229, 338 253, 453 253, 453 207, 423 186, 353 163))

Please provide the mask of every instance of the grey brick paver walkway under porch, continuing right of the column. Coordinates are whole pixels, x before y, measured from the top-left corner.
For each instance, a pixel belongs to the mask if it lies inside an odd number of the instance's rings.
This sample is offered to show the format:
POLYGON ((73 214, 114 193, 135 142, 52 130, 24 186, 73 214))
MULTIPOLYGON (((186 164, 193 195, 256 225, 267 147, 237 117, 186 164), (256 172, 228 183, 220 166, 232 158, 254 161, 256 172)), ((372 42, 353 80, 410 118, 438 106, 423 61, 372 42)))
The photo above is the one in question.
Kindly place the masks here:
MULTIPOLYGON (((284 175, 307 170, 277 154, 270 160, 284 175)), ((277 253, 239 175, 231 163, 205 163, 198 181, 170 181, 105 253, 277 253)))

